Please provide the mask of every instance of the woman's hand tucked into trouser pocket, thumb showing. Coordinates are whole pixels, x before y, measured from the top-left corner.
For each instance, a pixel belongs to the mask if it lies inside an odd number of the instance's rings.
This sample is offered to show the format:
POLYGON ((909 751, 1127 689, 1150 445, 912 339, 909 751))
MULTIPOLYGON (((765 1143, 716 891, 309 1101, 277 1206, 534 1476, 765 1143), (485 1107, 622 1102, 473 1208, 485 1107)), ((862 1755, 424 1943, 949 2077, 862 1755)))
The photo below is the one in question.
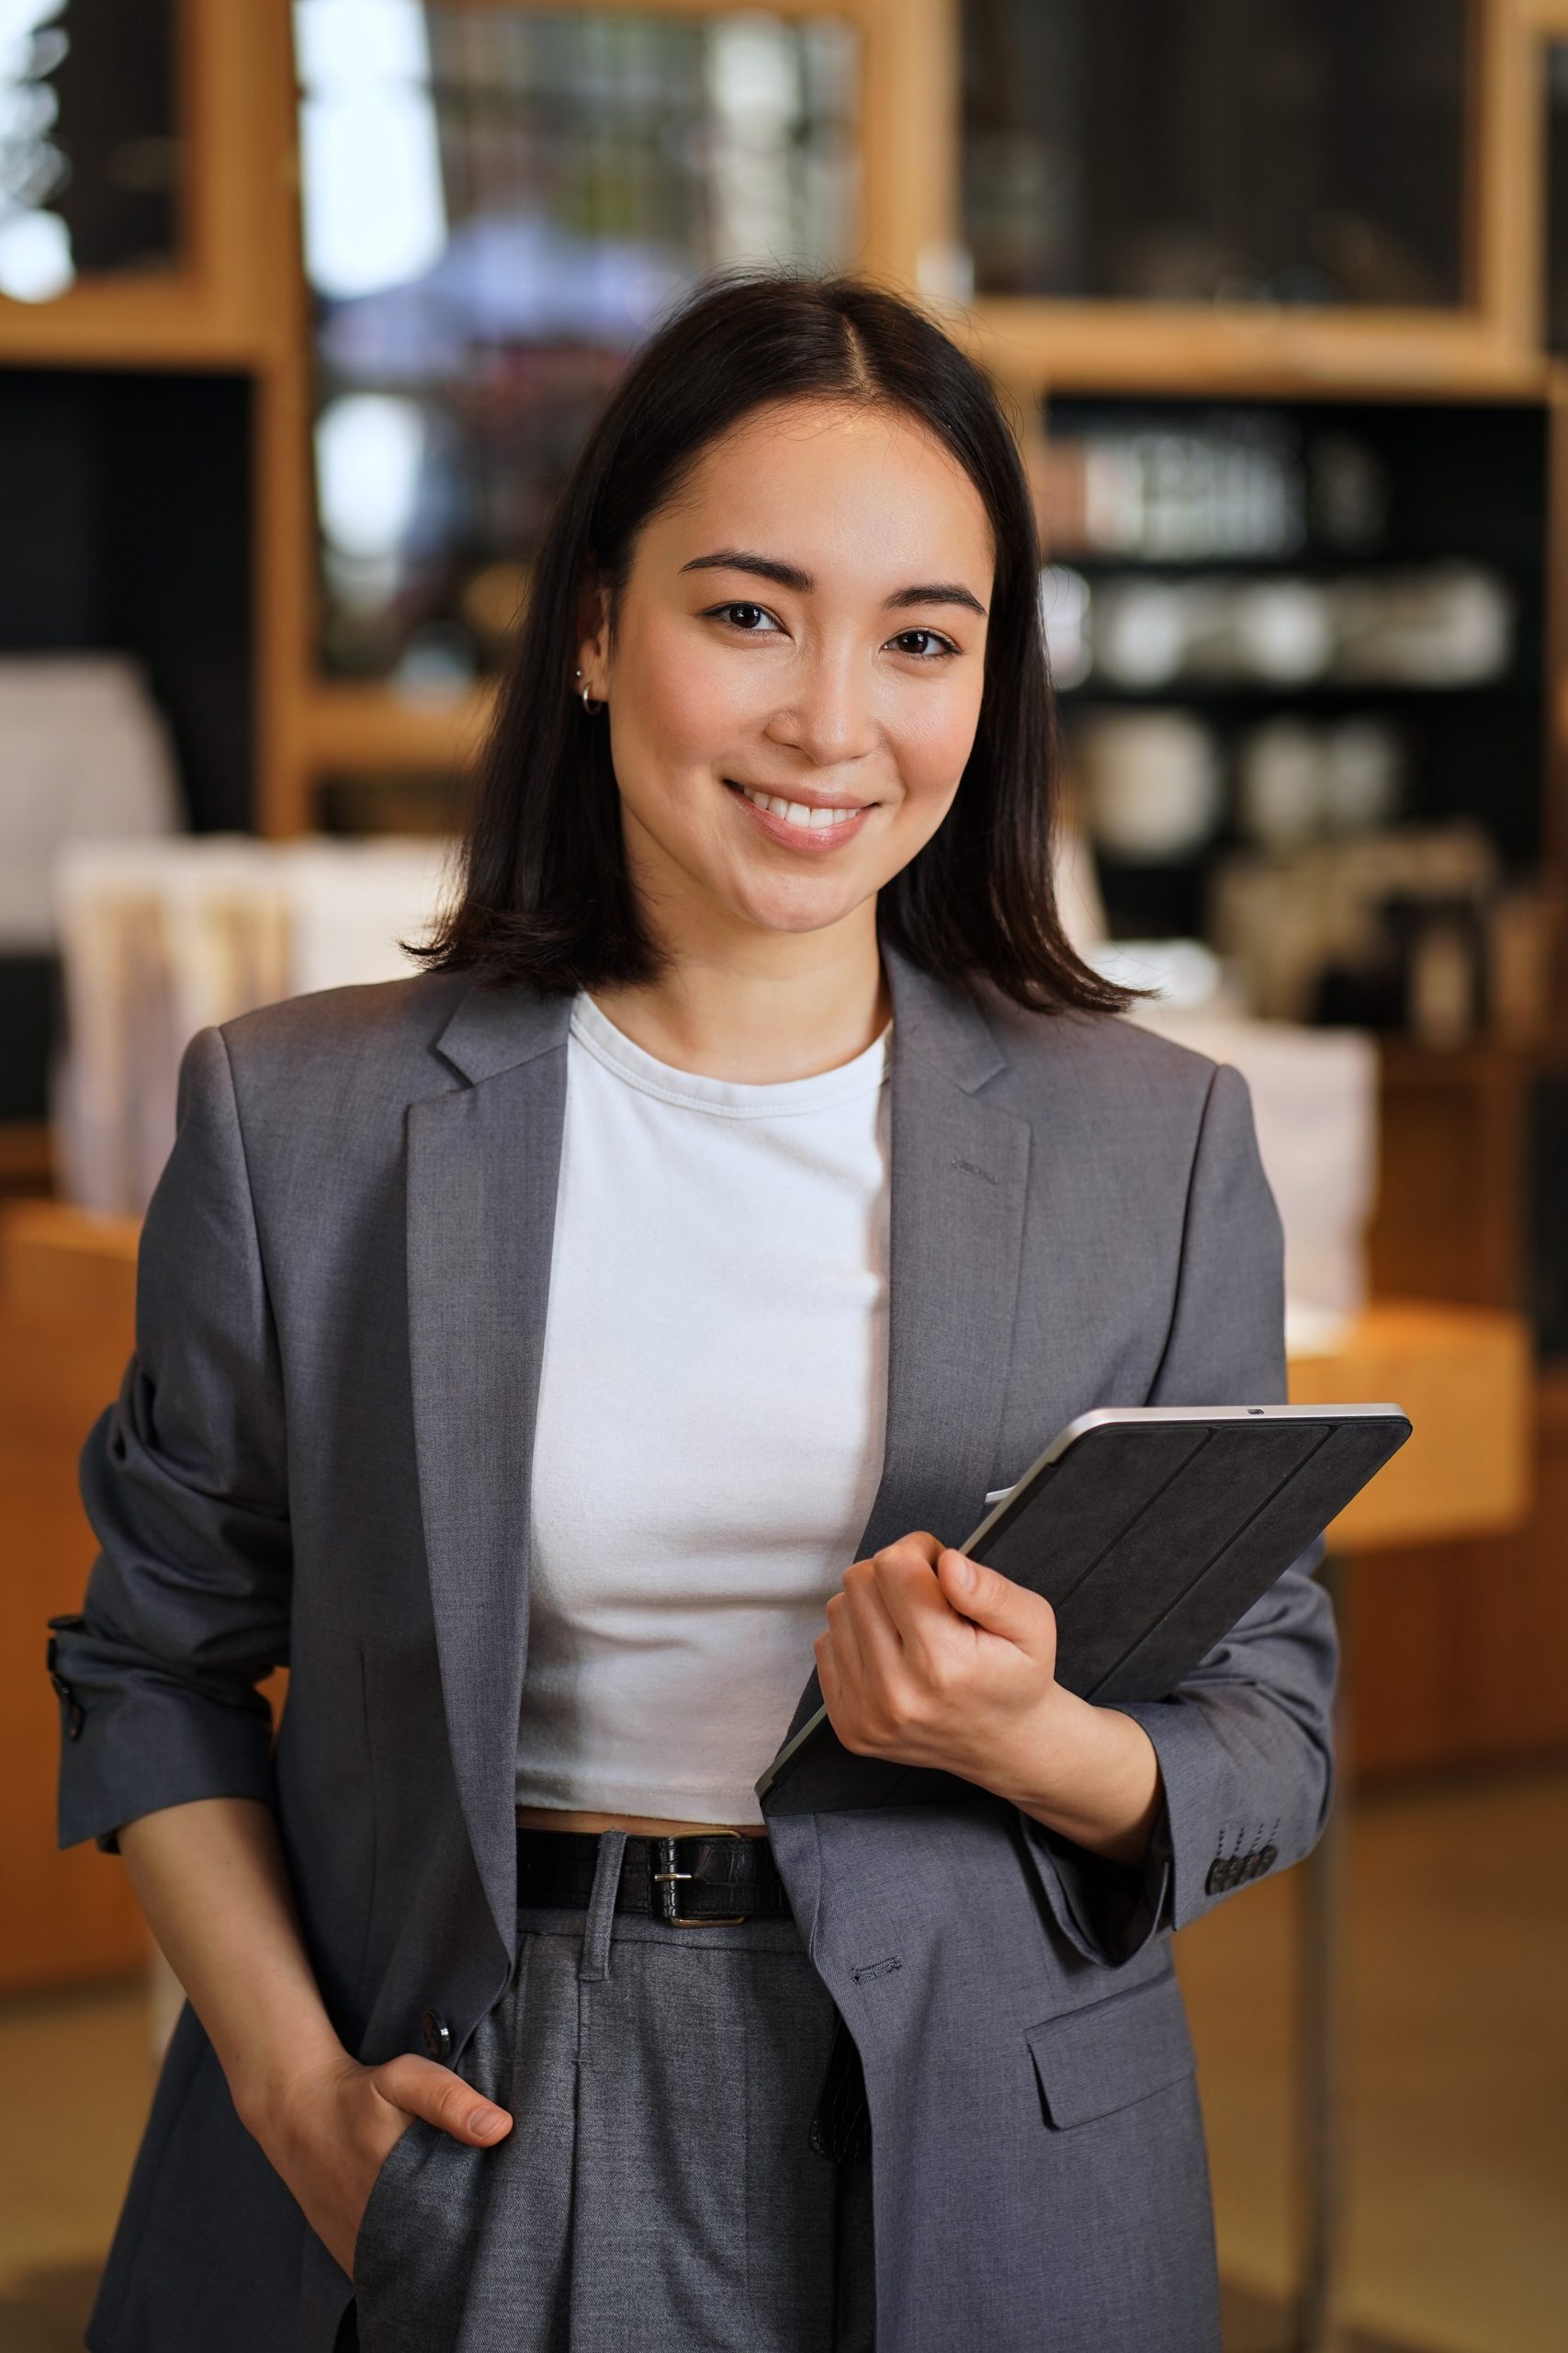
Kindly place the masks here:
POLYGON ((292 2078, 266 2118, 247 2120, 273 2172, 350 2278, 376 2174, 414 2118, 468 2148, 494 2148, 512 2129, 505 2108, 416 2052, 381 2066, 360 2066, 343 2052, 341 2061, 292 2078))

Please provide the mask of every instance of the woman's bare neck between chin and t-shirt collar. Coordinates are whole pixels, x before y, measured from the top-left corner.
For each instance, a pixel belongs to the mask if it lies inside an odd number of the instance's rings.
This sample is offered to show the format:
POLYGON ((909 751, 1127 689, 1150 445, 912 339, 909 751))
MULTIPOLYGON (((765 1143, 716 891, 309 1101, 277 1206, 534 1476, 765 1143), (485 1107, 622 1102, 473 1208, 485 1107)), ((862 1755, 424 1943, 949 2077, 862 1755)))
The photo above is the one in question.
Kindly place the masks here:
POLYGON ((595 1002, 677 1071, 757 1087, 816 1078, 863 1054, 889 1021, 875 906, 856 918, 827 932, 670 946, 656 981, 599 988, 595 1002))

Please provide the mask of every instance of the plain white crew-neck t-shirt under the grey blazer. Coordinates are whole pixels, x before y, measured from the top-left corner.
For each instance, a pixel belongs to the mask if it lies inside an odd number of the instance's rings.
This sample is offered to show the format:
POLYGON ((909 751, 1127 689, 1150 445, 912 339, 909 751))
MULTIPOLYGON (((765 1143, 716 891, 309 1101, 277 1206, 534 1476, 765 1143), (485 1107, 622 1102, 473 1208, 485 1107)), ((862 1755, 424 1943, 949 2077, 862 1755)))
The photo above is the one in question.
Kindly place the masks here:
POLYGON ((759 1821, 882 1478, 889 1035, 748 1087, 581 995, 567 1054, 517 1802, 759 1821))

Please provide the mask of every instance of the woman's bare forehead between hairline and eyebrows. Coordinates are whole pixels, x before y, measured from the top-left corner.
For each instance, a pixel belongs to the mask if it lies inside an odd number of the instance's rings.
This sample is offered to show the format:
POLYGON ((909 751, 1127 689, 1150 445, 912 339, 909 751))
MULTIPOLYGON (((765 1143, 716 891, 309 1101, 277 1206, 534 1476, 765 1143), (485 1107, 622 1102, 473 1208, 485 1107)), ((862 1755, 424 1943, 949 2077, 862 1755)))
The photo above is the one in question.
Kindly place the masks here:
POLYGON ((778 555, 823 579, 954 569, 983 593, 992 532, 980 492, 903 409, 788 400, 752 409, 701 454, 644 532, 646 553, 682 565, 715 546, 778 555))

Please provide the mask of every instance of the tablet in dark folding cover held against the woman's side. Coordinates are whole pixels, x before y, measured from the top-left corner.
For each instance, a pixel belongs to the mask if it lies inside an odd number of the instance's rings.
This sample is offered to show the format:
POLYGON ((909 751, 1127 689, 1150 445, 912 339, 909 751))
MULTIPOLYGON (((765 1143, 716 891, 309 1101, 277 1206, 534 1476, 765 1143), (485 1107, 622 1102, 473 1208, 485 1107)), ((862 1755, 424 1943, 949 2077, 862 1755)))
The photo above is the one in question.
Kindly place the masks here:
MULTIPOLYGON (((1410 1435, 1399 1405, 1143 1405, 1079 1414, 959 1546, 1056 1609, 1056 1675, 1164 1699, 1410 1435)), ((947 1781, 851 1755, 827 1708, 757 1781, 771 1812, 947 1781)))

